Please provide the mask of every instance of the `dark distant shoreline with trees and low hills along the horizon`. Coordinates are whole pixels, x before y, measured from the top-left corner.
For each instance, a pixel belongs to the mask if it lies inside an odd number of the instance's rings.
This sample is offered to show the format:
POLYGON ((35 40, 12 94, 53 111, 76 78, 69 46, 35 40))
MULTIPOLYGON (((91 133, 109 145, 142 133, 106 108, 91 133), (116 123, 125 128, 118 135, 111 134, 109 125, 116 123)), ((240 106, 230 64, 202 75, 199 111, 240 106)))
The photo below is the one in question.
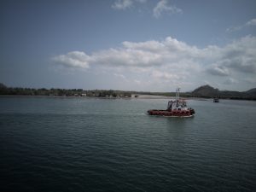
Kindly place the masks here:
MULTIPOLYGON (((0 96, 50 96, 50 97, 96 97, 96 98, 147 98, 170 99, 176 96, 175 92, 150 92, 133 90, 83 90, 83 89, 32 89, 7 87, 0 83, 0 96)), ((218 90, 210 85, 203 85, 191 92, 180 92, 186 99, 231 99, 256 101, 256 88, 247 91, 218 90)))

